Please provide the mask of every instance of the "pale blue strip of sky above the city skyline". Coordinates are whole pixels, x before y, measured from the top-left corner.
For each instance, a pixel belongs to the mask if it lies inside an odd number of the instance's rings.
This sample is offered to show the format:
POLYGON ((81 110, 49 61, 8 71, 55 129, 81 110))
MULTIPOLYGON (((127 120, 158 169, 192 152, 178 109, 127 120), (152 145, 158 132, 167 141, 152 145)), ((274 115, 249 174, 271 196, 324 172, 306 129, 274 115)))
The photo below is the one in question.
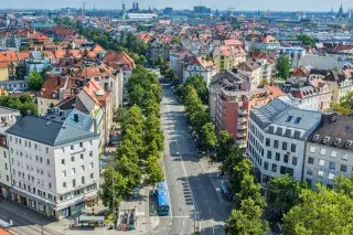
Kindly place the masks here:
MULTIPOLYGON (((121 9, 122 0, 0 0, 0 8, 31 8, 31 9, 57 9, 64 7, 79 8, 86 2, 86 9, 121 9)), ((347 11, 353 8, 352 0, 202 0, 212 9, 226 9, 229 7, 235 10, 258 10, 261 11, 338 11, 340 4, 343 10, 347 11)), ((132 0, 125 0, 127 9, 132 6, 132 0)), ((148 9, 156 7, 158 9, 164 7, 173 7, 174 9, 192 9, 193 6, 200 4, 200 0, 140 0, 140 8, 148 9)))

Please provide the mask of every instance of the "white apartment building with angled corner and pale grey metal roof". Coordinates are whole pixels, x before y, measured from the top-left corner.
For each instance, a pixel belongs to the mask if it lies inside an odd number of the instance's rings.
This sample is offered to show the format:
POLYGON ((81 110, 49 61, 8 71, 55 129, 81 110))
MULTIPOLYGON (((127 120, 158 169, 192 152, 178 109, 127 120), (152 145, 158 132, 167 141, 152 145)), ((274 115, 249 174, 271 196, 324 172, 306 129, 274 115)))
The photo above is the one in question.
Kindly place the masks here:
POLYGON ((272 177, 281 174, 301 180, 306 138, 320 122, 321 113, 299 108, 288 97, 253 108, 247 153, 254 162, 256 178, 264 186, 272 177))

